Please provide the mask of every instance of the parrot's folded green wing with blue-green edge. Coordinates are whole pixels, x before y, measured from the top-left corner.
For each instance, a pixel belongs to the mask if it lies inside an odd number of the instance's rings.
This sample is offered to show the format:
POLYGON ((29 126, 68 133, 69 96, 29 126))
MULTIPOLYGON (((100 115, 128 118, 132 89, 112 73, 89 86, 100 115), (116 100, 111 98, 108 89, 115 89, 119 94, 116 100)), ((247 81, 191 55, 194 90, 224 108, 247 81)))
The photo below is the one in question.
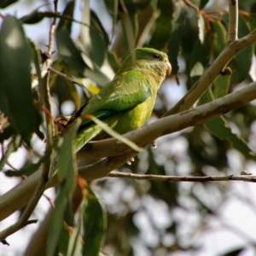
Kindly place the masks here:
POLYGON ((101 92, 92 98, 83 109, 81 117, 84 119, 80 128, 90 125, 92 121, 86 119, 86 114, 92 114, 97 119, 128 109, 147 100, 151 95, 151 86, 143 73, 129 71, 119 74, 110 83, 106 84, 101 92))

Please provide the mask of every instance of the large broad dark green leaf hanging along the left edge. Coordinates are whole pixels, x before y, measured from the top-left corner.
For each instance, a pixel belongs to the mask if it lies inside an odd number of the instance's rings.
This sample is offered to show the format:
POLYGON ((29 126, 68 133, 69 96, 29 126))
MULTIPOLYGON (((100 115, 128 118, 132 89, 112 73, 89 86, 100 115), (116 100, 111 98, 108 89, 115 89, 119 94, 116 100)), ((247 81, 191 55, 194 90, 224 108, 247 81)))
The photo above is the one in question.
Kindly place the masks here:
POLYGON ((36 130, 31 90, 31 52, 25 33, 14 16, 3 19, 0 32, 0 109, 15 131, 29 143, 36 130))

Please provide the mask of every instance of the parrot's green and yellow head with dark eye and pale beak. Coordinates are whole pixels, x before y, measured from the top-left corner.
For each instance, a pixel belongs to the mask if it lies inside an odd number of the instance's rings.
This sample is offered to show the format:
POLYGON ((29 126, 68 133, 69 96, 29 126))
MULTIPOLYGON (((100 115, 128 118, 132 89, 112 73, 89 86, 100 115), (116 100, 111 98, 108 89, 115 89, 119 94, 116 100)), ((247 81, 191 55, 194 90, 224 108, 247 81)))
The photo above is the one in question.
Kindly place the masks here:
POLYGON ((172 72, 172 66, 166 53, 153 48, 137 48, 125 58, 118 73, 128 70, 137 70, 145 76, 154 77, 161 84, 166 74, 172 72))

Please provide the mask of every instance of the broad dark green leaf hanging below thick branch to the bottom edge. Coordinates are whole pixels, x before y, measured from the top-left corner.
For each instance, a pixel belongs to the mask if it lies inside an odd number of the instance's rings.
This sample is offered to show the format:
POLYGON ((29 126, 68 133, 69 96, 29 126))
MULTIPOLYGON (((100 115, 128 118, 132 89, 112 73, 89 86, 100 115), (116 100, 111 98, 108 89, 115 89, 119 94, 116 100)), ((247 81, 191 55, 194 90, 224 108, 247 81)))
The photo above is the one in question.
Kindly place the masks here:
POLYGON ((106 212, 95 193, 89 188, 84 211, 83 255, 98 256, 106 234, 106 212))

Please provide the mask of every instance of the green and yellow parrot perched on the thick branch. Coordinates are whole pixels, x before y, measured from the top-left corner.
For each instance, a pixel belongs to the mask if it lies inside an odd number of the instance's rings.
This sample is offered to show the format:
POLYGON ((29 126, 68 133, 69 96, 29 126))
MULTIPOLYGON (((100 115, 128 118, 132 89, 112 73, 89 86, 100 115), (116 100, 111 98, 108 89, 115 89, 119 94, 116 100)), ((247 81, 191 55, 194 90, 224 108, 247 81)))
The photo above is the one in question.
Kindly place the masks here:
POLYGON ((128 55, 113 80, 68 120, 71 124, 78 116, 82 118, 75 142, 75 151, 84 147, 92 138, 107 138, 86 114, 102 119, 119 134, 141 128, 154 108, 157 90, 170 74, 172 66, 165 53, 150 48, 137 48, 128 55))

